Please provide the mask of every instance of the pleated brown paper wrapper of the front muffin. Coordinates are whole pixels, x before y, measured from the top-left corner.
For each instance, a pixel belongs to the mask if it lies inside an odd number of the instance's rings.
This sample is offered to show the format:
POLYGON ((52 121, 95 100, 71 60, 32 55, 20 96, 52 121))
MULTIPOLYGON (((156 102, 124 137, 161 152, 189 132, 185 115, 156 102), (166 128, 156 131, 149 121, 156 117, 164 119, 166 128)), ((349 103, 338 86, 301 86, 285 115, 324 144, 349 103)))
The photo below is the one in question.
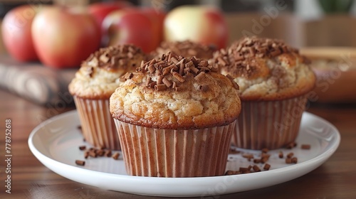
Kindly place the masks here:
POLYGON ((195 177, 224 174, 236 122, 224 127, 173 130, 114 120, 129 175, 195 177))

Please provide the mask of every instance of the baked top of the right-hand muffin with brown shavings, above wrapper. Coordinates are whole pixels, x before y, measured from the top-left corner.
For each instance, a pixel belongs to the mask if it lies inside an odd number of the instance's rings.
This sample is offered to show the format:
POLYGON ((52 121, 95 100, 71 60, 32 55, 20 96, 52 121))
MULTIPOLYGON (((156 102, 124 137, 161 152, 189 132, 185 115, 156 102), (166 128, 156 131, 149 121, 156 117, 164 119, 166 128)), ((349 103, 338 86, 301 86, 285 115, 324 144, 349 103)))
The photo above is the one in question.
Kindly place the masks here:
POLYGON ((283 41, 241 38, 214 53, 209 63, 239 84, 241 100, 280 100, 313 89, 315 75, 309 60, 283 41))

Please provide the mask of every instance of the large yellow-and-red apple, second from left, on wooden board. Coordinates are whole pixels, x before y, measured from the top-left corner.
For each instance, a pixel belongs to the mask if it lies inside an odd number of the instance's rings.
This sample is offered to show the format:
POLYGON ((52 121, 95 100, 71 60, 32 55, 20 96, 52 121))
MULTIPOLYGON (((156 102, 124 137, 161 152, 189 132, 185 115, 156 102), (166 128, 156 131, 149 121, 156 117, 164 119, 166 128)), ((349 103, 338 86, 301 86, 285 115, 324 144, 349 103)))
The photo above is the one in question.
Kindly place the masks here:
POLYGON ((32 23, 38 57, 54 68, 78 67, 100 45, 100 27, 82 9, 58 6, 43 8, 32 23))

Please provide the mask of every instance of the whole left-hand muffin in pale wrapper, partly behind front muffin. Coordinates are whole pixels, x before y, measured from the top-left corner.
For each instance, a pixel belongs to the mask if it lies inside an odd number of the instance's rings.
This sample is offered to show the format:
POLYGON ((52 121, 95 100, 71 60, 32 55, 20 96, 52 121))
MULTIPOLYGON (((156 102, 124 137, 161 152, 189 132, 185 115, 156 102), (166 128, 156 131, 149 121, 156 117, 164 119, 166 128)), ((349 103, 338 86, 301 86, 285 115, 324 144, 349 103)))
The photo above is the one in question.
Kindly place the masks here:
POLYGON ((68 85, 75 102, 85 141, 98 148, 120 150, 110 114, 109 98, 120 77, 135 71, 145 54, 135 45, 101 48, 85 60, 68 85))

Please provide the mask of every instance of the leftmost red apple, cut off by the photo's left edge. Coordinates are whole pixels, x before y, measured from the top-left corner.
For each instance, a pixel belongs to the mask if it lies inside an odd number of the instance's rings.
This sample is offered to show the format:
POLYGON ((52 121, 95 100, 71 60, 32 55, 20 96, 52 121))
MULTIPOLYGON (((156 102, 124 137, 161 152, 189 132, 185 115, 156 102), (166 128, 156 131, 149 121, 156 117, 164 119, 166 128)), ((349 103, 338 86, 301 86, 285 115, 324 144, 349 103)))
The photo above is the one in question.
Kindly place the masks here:
POLYGON ((38 60, 31 38, 31 24, 36 10, 30 5, 9 11, 1 24, 1 35, 6 50, 16 60, 38 60))

